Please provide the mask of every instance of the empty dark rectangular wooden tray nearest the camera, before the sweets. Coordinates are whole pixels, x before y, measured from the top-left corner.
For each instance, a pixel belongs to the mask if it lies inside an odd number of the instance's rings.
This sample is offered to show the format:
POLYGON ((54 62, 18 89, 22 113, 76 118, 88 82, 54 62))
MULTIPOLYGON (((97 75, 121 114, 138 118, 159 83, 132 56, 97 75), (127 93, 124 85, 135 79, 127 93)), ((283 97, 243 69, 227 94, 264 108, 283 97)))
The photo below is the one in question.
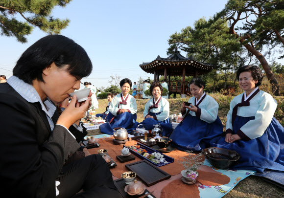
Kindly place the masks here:
POLYGON ((171 175, 146 160, 126 164, 125 167, 135 172, 147 186, 152 186, 171 177, 171 175))

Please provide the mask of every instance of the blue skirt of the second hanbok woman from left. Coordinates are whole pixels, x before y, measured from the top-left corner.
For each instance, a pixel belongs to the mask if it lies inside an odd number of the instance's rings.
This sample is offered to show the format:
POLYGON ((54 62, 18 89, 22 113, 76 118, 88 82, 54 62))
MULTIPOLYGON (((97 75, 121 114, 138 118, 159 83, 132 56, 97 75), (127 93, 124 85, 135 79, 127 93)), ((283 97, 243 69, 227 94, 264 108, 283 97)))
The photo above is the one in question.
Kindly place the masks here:
MULTIPOLYGON (((149 115, 151 115, 151 116, 159 115, 159 114, 161 114, 161 112, 158 112, 158 113, 150 112, 149 113, 149 115)), ((148 130, 148 131, 153 130, 154 127, 155 127, 154 125, 160 124, 160 126, 163 129, 162 136, 168 137, 170 135, 170 133, 173 131, 172 125, 169 122, 168 118, 166 120, 163 120, 163 121, 154 120, 153 118, 146 118, 141 123, 138 123, 138 125, 139 124, 142 124, 145 127, 145 129, 148 130)))

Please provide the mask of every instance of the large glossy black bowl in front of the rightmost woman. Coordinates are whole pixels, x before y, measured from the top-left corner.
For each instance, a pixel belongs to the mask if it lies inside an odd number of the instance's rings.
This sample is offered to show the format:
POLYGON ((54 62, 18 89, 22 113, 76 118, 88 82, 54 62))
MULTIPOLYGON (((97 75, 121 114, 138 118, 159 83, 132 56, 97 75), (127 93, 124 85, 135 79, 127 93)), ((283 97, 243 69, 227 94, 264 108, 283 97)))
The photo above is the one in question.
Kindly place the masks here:
POLYGON ((202 154, 206 156, 210 164, 218 169, 228 169, 233 166, 239 159, 236 151, 210 147, 202 150, 202 154))

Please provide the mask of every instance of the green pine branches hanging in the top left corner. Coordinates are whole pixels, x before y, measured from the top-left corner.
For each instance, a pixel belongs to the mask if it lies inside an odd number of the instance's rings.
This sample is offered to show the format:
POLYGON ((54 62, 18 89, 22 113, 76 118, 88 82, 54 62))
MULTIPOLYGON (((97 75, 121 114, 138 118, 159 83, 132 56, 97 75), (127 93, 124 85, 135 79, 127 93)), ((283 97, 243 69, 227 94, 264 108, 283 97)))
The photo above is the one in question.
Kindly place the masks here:
POLYGON ((0 31, 1 35, 16 37, 21 43, 26 43, 26 36, 34 27, 47 34, 60 34, 68 26, 68 19, 60 20, 51 16, 55 6, 66 6, 71 0, 1 0, 0 1, 0 31), (17 18, 21 18, 20 21, 17 18))

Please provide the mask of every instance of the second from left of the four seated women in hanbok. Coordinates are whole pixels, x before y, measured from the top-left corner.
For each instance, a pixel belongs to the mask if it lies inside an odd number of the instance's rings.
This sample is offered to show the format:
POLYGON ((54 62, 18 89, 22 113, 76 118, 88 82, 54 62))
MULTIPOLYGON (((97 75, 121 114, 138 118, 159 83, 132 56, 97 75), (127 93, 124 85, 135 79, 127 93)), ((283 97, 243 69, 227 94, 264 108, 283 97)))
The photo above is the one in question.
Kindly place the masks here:
POLYGON ((161 97, 163 87, 160 83, 153 83, 150 86, 150 93, 154 96, 145 104, 143 117, 145 118, 142 124, 146 130, 152 130, 154 125, 160 124, 163 128, 162 136, 169 136, 172 132, 172 126, 169 122, 169 103, 161 97))

